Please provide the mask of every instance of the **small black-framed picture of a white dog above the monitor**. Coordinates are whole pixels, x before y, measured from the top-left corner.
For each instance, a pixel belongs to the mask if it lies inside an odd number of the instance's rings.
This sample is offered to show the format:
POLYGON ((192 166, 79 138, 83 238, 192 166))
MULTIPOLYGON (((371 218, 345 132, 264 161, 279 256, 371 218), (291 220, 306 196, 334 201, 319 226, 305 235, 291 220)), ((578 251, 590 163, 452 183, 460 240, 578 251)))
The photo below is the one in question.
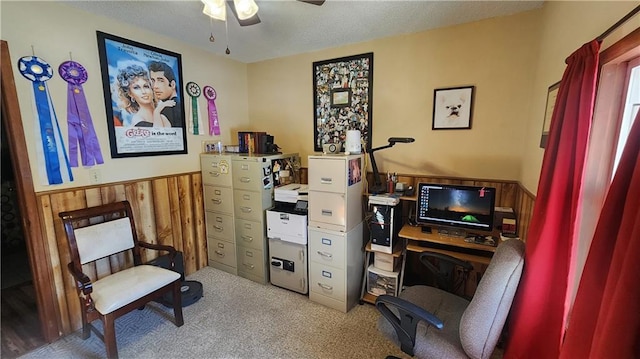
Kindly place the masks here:
POLYGON ((433 91, 434 130, 471 128, 475 86, 451 87, 433 91))

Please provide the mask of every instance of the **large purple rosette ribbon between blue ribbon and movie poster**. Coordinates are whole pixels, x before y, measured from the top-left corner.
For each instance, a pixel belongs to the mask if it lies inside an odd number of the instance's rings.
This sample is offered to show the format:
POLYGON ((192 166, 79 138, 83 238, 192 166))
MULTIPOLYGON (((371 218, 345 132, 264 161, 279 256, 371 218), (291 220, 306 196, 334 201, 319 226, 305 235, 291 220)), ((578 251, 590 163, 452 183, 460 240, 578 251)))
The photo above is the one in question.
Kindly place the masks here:
POLYGON ((78 167, 78 148, 83 166, 102 164, 100 143, 93 127, 82 84, 89 78, 87 70, 75 61, 65 61, 58 73, 67 82, 67 125, 69 131, 69 162, 78 167))

